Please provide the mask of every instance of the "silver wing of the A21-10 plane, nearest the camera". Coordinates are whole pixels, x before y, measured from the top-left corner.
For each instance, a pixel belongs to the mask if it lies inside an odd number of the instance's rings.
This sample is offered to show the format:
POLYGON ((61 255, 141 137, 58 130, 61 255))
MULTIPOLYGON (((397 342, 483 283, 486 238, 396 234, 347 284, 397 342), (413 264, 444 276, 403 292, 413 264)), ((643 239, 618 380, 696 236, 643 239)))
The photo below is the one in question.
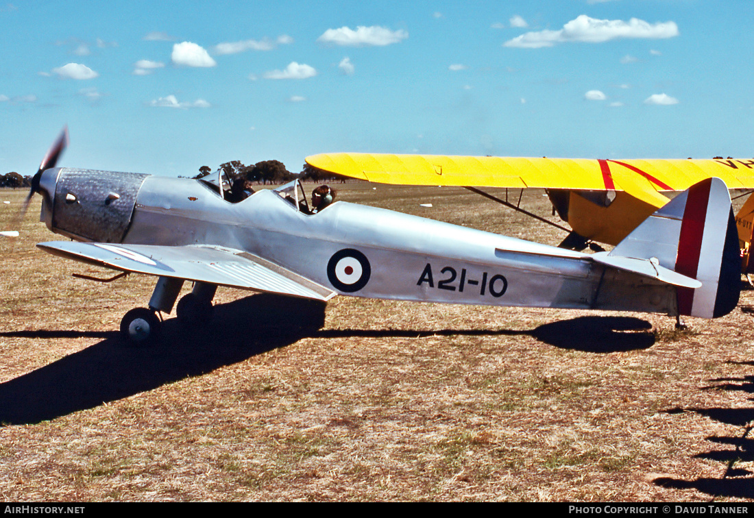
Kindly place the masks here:
POLYGON ((225 247, 52 241, 37 247, 56 256, 138 274, 176 277, 244 290, 329 300, 333 290, 253 254, 225 247))

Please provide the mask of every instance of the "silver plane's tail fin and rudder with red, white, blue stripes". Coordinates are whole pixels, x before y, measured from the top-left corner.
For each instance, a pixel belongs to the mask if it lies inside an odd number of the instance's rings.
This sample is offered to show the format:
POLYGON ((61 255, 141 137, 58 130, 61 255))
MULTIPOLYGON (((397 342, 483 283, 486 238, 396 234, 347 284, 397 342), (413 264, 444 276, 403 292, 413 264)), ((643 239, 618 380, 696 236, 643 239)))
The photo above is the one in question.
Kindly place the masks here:
POLYGON ((731 195, 725 182, 704 179, 636 227, 609 254, 656 258, 659 265, 700 281, 678 287, 679 314, 714 318, 738 304, 741 259, 731 195))

